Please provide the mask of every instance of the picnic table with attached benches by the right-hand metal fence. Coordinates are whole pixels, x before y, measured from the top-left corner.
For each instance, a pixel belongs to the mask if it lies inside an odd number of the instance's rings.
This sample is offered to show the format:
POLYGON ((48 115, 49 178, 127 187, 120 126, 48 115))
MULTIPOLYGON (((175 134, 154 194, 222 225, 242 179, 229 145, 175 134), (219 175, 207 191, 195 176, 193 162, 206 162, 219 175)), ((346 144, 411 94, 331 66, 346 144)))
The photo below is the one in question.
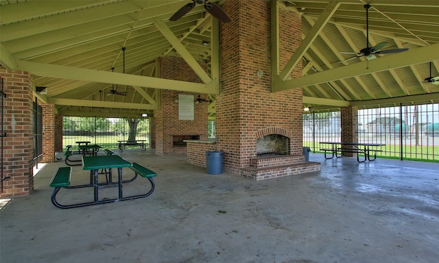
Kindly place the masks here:
POLYGON ((381 143, 367 143, 367 142, 320 142, 323 145, 320 151, 324 152, 325 159, 342 158, 344 153, 357 153, 358 162, 375 161, 377 159, 377 152, 383 151, 377 149, 377 147, 384 146, 381 143), (331 148, 324 148, 324 145, 331 145, 331 148), (331 156, 327 156, 327 152, 331 153, 331 156), (359 159, 359 154, 364 155, 364 160, 359 159), (370 154, 373 154, 373 158, 370 158, 370 154))

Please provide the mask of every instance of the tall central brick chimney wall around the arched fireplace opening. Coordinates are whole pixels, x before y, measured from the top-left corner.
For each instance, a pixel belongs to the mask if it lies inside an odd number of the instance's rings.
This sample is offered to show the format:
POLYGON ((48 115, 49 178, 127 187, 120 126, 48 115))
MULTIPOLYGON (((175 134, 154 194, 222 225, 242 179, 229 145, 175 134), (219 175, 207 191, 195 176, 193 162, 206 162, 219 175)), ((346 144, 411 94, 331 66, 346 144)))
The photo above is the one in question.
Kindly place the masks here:
MULTIPOLYGON (((270 1, 225 1, 232 23, 220 24, 222 84, 217 97, 218 150, 224 169, 238 174, 257 153, 257 132, 277 127, 291 132, 289 149, 302 155, 302 90, 271 92, 270 1), (263 71, 263 77, 257 71, 263 71)), ((281 10, 281 68, 300 45, 298 14, 281 10)), ((301 75, 298 64, 292 77, 301 75)))

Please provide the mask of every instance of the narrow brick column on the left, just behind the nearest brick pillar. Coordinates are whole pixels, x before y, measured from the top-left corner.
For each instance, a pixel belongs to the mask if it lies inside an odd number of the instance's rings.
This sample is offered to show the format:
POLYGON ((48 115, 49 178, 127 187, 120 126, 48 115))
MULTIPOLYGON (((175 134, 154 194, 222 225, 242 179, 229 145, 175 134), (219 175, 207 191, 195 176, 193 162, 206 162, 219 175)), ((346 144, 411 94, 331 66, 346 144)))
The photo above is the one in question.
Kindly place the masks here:
POLYGON ((55 105, 38 104, 43 109, 43 162, 55 161, 55 105))

